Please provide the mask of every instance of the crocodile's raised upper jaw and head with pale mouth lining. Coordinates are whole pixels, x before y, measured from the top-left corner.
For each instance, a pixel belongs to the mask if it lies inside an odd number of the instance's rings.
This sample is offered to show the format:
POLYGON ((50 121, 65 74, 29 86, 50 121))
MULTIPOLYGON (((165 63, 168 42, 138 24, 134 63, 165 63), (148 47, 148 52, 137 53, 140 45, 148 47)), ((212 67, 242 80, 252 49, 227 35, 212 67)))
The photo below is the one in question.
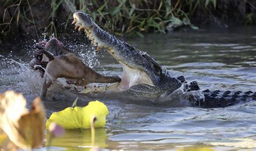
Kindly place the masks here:
MULTIPOLYGON (((119 88, 129 89, 134 85, 144 84, 159 86, 163 78, 163 70, 147 53, 139 51, 127 42, 114 37, 100 28, 90 17, 82 12, 74 13, 75 29, 84 30, 87 38, 97 49, 105 48, 120 64, 123 65, 122 81, 119 88)), ((179 85, 180 86, 180 85, 179 85)))

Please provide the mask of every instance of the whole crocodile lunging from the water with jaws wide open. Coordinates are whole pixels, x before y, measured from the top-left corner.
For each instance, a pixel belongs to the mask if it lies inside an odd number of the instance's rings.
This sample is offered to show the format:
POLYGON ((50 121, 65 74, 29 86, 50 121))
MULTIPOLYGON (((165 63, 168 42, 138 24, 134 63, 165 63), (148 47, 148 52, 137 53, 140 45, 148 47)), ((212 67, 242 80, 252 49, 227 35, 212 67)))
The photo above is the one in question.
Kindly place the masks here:
POLYGON ((188 83, 184 76, 172 77, 149 54, 102 30, 86 13, 74 13, 72 24, 75 24, 75 30, 85 32, 92 45, 97 46, 97 51, 104 48, 123 66, 120 82, 102 88, 87 87, 82 93, 74 92, 77 96, 130 96, 156 104, 166 104, 166 100, 169 103, 186 100, 185 104, 200 107, 226 107, 256 99, 253 91, 200 90, 195 81, 188 83))

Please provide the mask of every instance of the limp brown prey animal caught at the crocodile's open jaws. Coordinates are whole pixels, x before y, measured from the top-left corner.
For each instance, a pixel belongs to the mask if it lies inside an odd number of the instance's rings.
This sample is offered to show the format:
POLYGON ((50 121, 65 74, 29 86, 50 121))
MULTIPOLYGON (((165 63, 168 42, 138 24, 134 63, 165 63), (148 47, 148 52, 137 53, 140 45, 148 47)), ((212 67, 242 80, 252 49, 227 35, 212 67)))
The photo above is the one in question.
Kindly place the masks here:
POLYGON ((96 71, 87 67, 75 54, 69 52, 56 38, 52 38, 48 42, 41 42, 41 44, 44 47, 37 47, 35 58, 29 63, 33 69, 35 69, 35 65, 46 66, 40 94, 41 99, 45 99, 48 88, 59 77, 67 78, 73 81, 73 84, 79 86, 85 86, 88 83, 114 83, 121 81, 118 76, 103 76, 96 73, 96 71))

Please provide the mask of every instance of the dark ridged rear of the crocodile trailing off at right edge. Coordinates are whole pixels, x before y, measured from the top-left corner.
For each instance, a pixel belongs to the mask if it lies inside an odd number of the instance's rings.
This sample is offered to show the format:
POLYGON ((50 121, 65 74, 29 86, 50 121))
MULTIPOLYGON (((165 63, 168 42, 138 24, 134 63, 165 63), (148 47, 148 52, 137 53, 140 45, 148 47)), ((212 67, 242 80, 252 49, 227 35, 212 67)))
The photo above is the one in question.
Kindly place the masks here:
POLYGON ((231 92, 231 91, 210 91, 204 90, 204 100, 197 100, 195 105, 202 107, 226 107, 240 102, 248 102, 250 100, 256 100, 256 92, 231 92))

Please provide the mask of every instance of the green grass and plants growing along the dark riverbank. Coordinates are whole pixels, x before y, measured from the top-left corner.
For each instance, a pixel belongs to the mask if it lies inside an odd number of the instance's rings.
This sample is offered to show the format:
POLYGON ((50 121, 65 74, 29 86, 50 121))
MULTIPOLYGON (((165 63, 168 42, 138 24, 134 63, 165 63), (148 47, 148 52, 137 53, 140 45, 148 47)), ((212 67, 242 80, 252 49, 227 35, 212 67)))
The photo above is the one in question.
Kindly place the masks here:
MULTIPOLYGON (((143 32, 165 33, 183 26, 197 29, 198 27, 191 24, 191 17, 196 10, 203 6, 203 9, 212 15, 211 11, 221 4, 221 1, 217 0, 7 0, 2 2, 4 12, 0 22, 1 32, 10 32, 14 26, 20 24, 21 18, 36 28, 37 24, 31 9, 41 1, 51 5, 49 14, 46 14, 48 26, 44 27, 43 32, 57 34, 56 16, 65 6, 69 10, 66 11, 67 18, 62 20, 65 22, 63 25, 65 30, 72 13, 82 11, 89 13, 105 30, 116 34, 136 33, 140 36, 143 36, 143 32), (12 15, 6 17, 8 12, 12 15)), ((249 2, 246 0, 245 3, 249 2)), ((252 24, 252 15, 246 15, 244 20, 245 24, 252 24)))

